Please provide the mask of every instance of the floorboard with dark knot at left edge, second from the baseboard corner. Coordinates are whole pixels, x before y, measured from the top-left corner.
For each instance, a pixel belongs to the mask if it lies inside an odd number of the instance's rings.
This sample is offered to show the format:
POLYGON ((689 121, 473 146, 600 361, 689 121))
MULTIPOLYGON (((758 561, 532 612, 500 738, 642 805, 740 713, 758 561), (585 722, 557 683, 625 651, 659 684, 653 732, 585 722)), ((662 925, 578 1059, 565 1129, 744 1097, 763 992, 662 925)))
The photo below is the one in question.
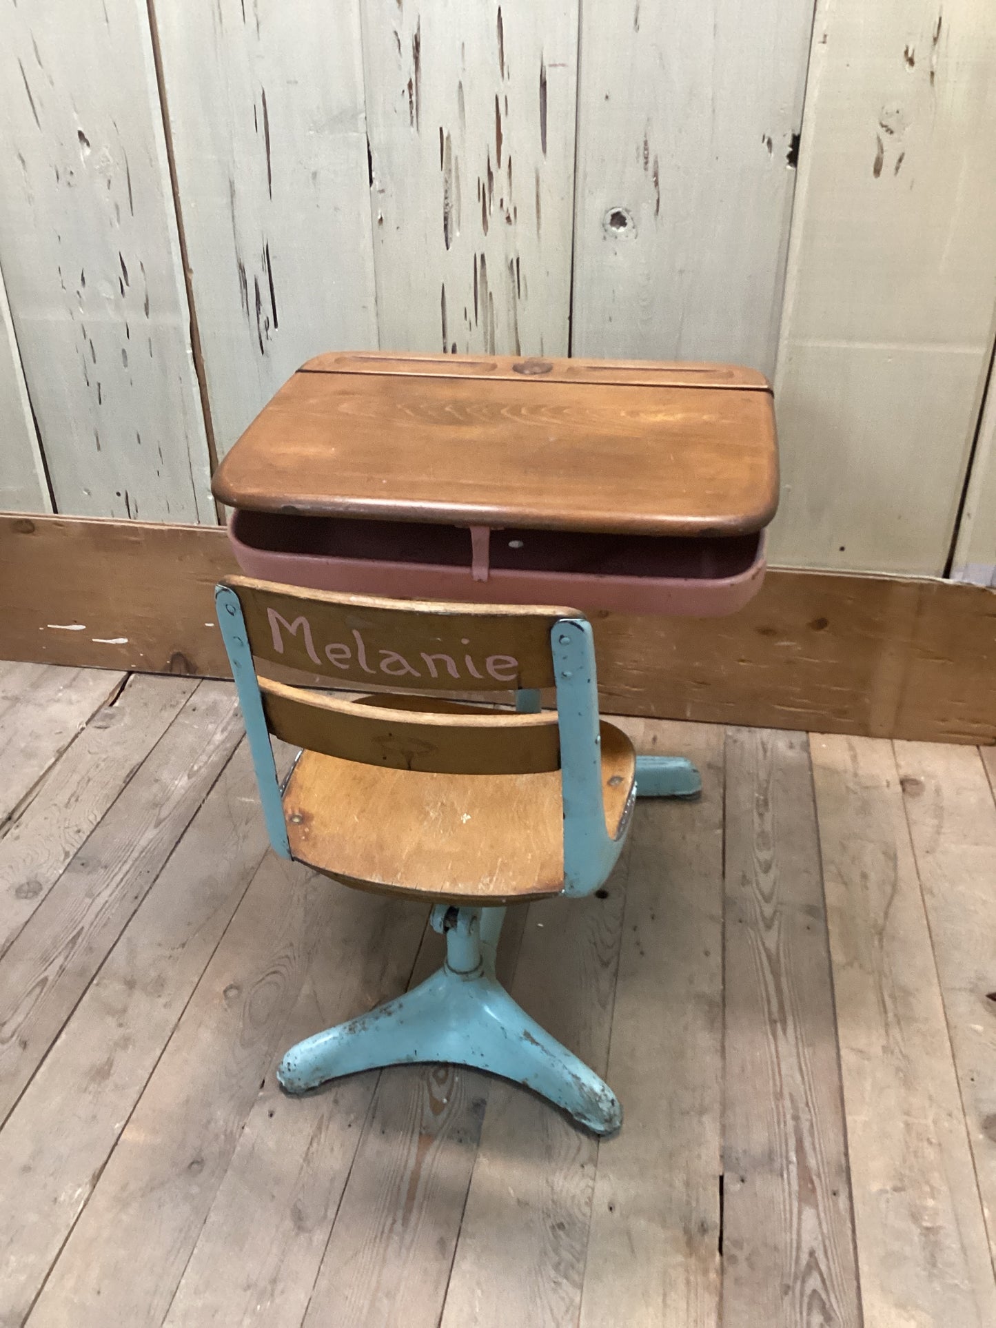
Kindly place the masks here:
POLYGON ((197 683, 130 677, 49 769, 0 838, 0 954, 58 880, 197 683))

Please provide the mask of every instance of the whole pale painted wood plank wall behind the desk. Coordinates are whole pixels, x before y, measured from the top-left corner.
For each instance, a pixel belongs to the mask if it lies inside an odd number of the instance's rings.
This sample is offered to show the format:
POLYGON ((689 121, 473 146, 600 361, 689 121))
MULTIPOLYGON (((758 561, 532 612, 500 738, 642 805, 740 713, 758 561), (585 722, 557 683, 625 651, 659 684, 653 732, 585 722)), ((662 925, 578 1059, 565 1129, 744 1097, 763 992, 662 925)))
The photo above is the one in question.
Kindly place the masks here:
MULTIPOLYGON (((33 409, 60 511, 214 522, 208 438, 321 349, 778 345, 772 559, 940 574, 996 311, 996 9, 819 0, 810 53, 813 3, 5 7, 0 505, 50 506, 33 409)), ((991 405, 976 580, 995 438, 991 405)))

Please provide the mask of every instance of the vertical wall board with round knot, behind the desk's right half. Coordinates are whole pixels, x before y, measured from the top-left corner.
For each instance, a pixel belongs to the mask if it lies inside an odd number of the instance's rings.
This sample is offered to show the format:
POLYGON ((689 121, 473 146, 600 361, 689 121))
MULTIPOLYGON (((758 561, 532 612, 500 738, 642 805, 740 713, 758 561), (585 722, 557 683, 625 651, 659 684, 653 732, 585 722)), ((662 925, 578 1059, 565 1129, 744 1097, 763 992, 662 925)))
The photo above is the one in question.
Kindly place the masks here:
POLYGON ((774 369, 813 0, 584 0, 575 355, 774 369))

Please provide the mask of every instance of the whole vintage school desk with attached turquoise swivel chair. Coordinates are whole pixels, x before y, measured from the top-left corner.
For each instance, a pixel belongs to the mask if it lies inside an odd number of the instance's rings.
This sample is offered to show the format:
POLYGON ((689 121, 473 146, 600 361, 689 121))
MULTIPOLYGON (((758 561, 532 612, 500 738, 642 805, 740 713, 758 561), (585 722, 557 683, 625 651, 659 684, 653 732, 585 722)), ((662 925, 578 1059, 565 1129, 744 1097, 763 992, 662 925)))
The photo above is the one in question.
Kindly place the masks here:
POLYGON ((292 1048, 280 1082, 456 1061, 618 1129, 615 1094, 511 1001, 494 952, 506 903, 602 884, 635 795, 699 791, 691 762, 635 757, 599 728, 583 614, 712 616, 757 592, 778 497, 766 381, 725 365, 325 355, 250 425, 214 493, 247 574, 219 587, 219 622, 274 847, 430 899, 446 934, 434 977, 292 1048), (335 699, 259 679, 258 660, 393 692, 335 699), (502 688, 518 713, 410 695, 502 688), (283 788, 271 733, 305 749, 283 788), (517 780, 537 781, 525 802, 517 780), (393 815, 393 837, 365 825, 393 815), (434 875, 457 841, 474 869, 434 875))

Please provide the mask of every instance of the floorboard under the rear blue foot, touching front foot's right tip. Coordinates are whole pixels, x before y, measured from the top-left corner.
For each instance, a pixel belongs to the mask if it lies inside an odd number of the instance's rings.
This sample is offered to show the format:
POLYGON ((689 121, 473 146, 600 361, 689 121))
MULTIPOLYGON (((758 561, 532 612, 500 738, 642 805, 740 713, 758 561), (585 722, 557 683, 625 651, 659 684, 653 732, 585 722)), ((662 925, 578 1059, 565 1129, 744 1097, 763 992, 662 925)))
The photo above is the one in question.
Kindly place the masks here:
POLYGON ((639 802, 629 831, 580 1328, 716 1328, 722 1170, 724 732, 629 720, 637 752, 689 757, 700 802, 639 802))

